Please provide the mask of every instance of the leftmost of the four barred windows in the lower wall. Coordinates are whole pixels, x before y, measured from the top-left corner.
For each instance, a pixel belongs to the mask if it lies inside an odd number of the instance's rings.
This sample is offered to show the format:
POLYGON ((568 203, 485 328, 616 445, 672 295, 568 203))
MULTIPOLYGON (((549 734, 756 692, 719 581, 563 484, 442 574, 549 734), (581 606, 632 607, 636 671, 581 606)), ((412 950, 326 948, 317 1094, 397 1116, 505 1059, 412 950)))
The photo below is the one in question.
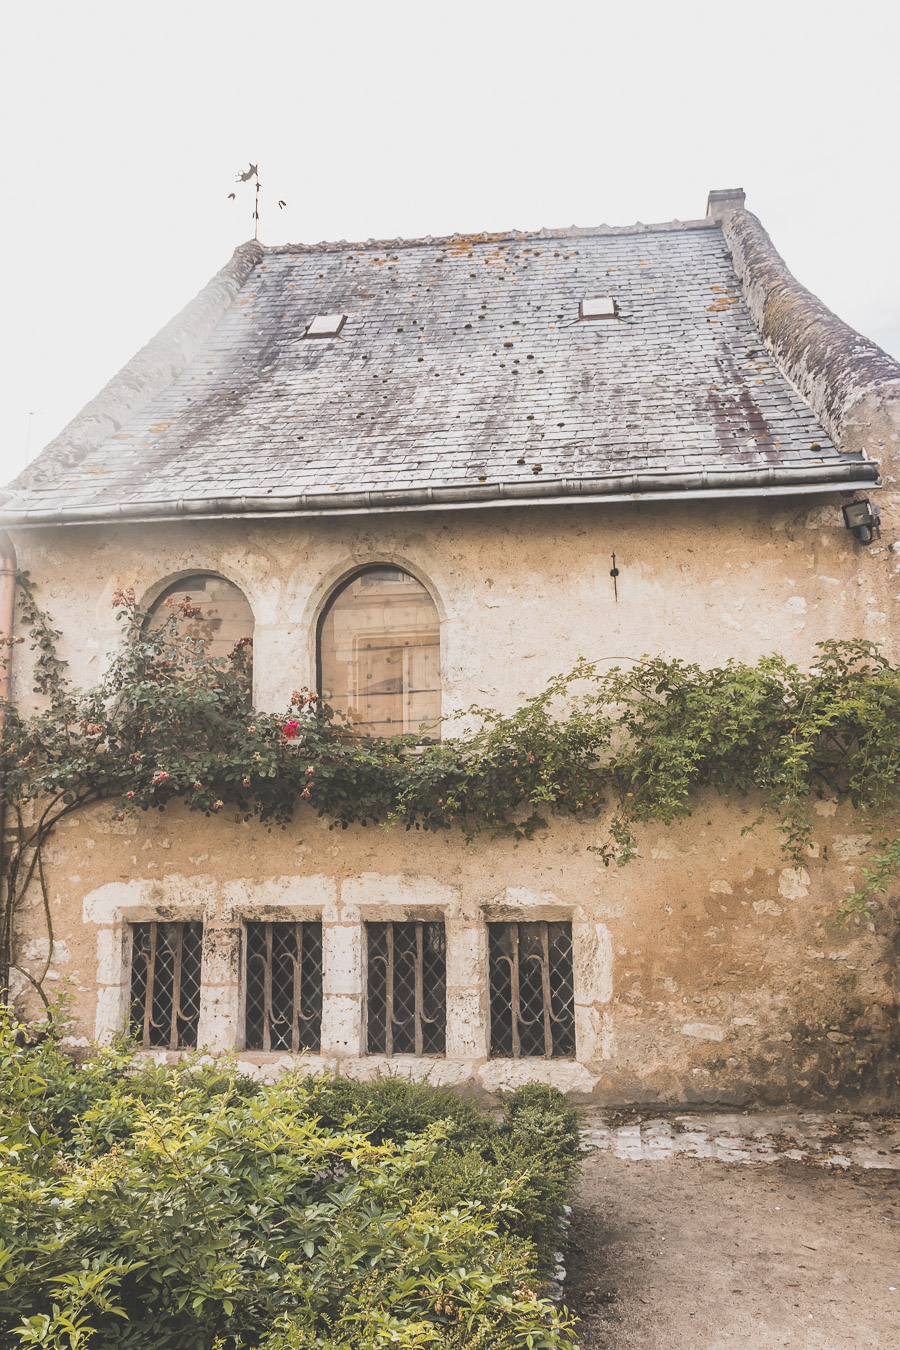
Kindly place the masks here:
POLYGON ((197 1045, 202 923, 131 925, 131 1029, 144 1049, 197 1045))

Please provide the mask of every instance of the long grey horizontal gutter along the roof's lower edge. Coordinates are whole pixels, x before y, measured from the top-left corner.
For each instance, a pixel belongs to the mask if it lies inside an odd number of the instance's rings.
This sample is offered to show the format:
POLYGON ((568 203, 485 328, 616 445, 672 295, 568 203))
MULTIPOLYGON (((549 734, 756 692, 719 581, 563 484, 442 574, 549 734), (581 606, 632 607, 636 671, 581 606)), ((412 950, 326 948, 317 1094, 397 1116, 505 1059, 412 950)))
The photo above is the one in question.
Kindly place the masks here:
POLYGON ((474 510, 502 506, 559 506, 573 502, 698 501, 706 498, 808 495, 869 491, 881 486, 874 460, 770 466, 752 470, 695 470, 677 474, 606 474, 603 478, 545 478, 540 482, 459 483, 445 487, 378 487, 352 493, 298 493, 273 497, 181 497, 86 506, 7 506, 0 525, 46 526, 139 524, 229 516, 349 516, 409 510, 474 510))

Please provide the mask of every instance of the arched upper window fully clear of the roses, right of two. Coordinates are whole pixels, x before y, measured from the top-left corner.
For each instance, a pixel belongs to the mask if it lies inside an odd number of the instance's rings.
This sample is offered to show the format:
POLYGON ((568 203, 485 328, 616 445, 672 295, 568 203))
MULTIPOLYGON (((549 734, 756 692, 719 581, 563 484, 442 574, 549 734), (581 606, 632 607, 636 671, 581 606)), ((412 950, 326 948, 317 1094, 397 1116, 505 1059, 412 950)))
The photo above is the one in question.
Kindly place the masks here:
POLYGON ((363 736, 440 736, 440 621, 421 582, 367 567, 332 595, 318 625, 318 688, 363 736))

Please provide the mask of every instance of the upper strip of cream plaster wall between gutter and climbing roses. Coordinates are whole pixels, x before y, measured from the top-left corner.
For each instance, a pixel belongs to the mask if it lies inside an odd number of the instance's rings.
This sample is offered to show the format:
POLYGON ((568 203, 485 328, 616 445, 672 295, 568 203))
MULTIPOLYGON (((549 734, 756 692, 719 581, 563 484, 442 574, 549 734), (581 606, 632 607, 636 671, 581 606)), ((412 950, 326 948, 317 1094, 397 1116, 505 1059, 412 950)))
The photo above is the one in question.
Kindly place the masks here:
POLYGON ((367 563, 395 562, 432 590, 448 709, 511 707, 579 655, 808 662, 826 636, 891 643, 900 593, 900 556, 858 545, 839 498, 69 526, 18 532, 16 547, 84 682, 115 647, 116 589, 150 601, 185 572, 220 571, 254 609, 267 707, 313 682, 321 605, 367 563))

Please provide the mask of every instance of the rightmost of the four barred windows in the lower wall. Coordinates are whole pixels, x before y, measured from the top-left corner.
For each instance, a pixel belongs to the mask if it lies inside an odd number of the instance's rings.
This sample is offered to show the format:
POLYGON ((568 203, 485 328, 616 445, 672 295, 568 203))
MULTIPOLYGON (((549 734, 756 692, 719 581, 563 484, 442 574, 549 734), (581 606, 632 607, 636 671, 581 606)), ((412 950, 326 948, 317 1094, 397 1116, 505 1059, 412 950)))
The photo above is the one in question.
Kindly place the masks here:
POLYGON ((575 1054, 571 923, 488 923, 491 1054, 575 1054))

